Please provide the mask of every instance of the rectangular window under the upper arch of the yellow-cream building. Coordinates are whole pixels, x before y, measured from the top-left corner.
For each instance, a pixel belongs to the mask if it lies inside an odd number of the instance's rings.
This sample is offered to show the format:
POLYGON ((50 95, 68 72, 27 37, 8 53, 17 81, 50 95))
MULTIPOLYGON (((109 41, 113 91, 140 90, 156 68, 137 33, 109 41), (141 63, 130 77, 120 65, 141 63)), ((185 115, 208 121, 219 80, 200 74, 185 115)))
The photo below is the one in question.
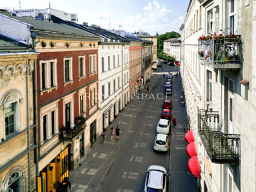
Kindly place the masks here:
POLYGON ((15 103, 6 104, 4 106, 4 117, 5 136, 8 136, 14 132, 15 103))

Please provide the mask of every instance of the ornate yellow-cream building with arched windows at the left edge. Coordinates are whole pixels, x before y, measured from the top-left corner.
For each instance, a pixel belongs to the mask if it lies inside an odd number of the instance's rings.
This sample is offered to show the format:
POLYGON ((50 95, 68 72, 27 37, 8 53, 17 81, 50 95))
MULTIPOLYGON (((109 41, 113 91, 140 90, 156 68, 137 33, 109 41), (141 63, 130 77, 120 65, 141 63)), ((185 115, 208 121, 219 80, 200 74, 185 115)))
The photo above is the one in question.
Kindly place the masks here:
POLYGON ((33 72, 37 56, 28 42, 0 33, 0 191, 36 189, 33 72))

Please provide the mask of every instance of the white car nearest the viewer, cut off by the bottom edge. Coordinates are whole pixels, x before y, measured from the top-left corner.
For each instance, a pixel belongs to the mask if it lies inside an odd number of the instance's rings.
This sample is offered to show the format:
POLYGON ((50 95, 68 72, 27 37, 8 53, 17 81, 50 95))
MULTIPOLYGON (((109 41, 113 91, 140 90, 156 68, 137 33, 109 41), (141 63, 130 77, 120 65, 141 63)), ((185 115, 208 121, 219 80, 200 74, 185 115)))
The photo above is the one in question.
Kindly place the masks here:
POLYGON ((151 165, 146 174, 144 192, 168 191, 168 174, 163 166, 151 165))

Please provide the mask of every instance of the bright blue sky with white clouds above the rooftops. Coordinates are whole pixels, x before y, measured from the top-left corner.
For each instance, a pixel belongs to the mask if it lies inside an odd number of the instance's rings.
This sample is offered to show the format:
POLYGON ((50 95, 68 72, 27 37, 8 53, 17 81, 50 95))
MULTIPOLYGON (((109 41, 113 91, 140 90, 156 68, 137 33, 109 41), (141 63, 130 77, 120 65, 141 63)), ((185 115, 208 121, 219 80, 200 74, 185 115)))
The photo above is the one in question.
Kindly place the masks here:
POLYGON ((78 23, 88 22, 104 29, 122 29, 159 35, 175 31, 186 17, 189 0, 1 0, 0 8, 11 10, 51 8, 76 13, 78 23), (20 4, 20 5, 19 5, 20 4))

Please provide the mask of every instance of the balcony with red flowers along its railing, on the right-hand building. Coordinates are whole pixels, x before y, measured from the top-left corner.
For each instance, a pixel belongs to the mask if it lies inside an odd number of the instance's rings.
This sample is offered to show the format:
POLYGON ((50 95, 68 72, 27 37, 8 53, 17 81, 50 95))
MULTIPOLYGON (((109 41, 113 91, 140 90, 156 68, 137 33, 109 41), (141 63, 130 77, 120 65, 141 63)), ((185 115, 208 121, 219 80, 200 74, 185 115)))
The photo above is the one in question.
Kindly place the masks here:
POLYGON ((241 69, 240 45, 241 38, 238 35, 200 36, 198 39, 199 61, 214 70, 239 70, 241 69))

